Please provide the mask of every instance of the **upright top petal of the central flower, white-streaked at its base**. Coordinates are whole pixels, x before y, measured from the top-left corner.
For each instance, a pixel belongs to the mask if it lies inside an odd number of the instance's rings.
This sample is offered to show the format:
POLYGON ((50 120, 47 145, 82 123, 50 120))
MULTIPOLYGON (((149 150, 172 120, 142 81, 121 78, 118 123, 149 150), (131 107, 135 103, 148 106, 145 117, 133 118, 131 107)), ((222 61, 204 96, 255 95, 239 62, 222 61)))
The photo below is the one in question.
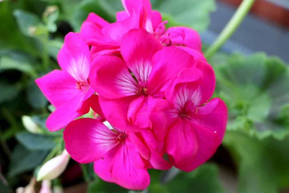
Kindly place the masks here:
POLYGON ((147 82, 152 70, 151 58, 160 49, 160 41, 144 29, 131 30, 123 36, 121 53, 139 84, 147 82))

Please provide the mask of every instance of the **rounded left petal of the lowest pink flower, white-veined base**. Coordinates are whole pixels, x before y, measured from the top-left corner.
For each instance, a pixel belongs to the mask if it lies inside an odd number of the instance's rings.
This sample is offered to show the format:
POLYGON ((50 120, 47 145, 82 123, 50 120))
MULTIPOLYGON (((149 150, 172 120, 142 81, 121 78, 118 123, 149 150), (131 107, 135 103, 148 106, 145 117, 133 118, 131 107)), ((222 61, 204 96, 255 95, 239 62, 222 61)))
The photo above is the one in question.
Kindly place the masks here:
POLYGON ((74 120, 63 131, 65 149, 80 163, 100 159, 118 145, 117 136, 117 133, 103 123, 91 118, 74 120))

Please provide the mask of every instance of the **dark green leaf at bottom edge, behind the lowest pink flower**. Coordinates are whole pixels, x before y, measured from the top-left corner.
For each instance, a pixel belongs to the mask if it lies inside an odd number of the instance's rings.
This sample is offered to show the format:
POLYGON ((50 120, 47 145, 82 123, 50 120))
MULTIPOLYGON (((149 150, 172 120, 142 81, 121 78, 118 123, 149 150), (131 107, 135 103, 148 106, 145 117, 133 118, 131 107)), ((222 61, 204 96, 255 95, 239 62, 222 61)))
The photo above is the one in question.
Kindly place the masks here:
MULTIPOLYGON (((176 168, 177 175, 168 179, 167 182, 161 182, 164 172, 160 170, 149 170, 151 183, 147 188, 148 193, 175 193, 175 192, 198 192, 198 193, 223 193, 224 188, 217 180, 217 167, 212 163, 206 163, 192 172, 183 172, 176 168)), ((172 170, 171 169, 171 170, 172 170)), ((169 170, 170 171, 170 170, 169 170)), ((116 192, 131 193, 125 188, 116 184, 97 179, 90 183, 88 193, 92 192, 116 192)))

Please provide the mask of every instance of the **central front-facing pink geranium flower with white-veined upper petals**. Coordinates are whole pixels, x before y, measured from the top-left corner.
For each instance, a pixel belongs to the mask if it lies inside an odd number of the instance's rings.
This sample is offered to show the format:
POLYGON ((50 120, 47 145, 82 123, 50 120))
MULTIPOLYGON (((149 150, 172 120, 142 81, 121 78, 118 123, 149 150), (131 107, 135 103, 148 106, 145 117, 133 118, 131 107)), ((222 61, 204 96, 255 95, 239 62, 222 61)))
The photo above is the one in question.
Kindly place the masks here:
MULTIPOLYGON (((196 60, 179 48, 163 49, 144 29, 123 36, 121 53, 124 61, 112 55, 95 58, 89 75, 91 86, 100 95, 101 109, 111 124, 133 132, 151 128, 152 100, 163 98, 168 82, 182 69, 195 67, 196 60)), ((202 63, 197 67, 203 68, 202 63)))

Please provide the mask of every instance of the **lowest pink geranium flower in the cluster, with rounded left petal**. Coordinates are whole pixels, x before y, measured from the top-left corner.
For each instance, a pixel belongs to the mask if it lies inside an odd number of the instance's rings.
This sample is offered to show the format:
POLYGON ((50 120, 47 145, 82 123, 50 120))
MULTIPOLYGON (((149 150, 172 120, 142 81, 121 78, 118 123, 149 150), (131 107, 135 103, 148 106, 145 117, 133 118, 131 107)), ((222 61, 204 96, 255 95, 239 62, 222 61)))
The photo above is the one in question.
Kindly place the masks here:
POLYGON ((171 167, 162 159, 163 142, 148 129, 137 133, 110 130, 95 119, 81 118, 68 124, 63 133, 65 148, 73 159, 94 162, 99 177, 124 188, 143 190, 150 182, 148 168, 171 167))

